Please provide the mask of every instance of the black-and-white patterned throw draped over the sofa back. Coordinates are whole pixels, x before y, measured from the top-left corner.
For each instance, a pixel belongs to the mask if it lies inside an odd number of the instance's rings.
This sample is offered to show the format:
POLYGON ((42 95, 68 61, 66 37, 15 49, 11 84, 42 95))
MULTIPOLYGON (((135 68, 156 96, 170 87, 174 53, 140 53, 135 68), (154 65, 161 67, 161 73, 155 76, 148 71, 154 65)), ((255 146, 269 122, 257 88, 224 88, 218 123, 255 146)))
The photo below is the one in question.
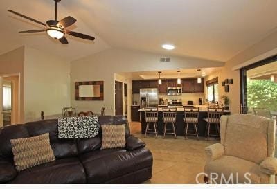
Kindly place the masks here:
POLYGON ((98 134, 98 117, 59 118, 57 129, 59 138, 92 138, 98 134))

